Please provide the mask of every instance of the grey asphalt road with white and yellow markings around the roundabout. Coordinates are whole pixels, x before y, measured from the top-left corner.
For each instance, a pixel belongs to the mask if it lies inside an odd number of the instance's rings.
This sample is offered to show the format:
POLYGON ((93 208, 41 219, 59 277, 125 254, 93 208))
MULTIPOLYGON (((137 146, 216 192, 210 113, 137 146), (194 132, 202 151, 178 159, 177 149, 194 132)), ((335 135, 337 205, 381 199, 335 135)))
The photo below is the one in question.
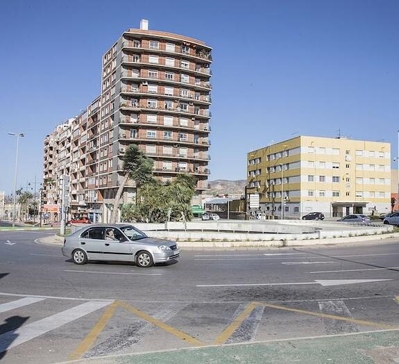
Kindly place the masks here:
POLYGON ((3 363, 399 327, 399 242, 183 251, 139 269, 74 265, 35 244, 46 234, 0 231, 3 363))

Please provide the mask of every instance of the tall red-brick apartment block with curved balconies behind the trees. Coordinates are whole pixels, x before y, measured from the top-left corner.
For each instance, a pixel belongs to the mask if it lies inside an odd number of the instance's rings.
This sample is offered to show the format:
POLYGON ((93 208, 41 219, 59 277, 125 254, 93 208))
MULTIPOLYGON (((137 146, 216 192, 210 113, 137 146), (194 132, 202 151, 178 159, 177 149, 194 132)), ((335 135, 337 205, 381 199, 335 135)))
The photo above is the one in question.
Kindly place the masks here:
MULTIPOLYGON (((68 158, 61 156, 67 140, 62 144, 57 129, 44 142, 44 179, 55 158, 50 141, 58 142, 61 169, 56 172, 70 177, 71 215, 92 213, 96 220, 108 220, 130 144, 153 158, 161 181, 188 173, 196 177, 197 196, 207 190, 211 50, 200 40, 148 30, 142 20, 139 29, 124 32, 105 52, 99 98, 63 126, 69 133, 68 158)), ((130 181, 124 202, 134 197, 130 181)))

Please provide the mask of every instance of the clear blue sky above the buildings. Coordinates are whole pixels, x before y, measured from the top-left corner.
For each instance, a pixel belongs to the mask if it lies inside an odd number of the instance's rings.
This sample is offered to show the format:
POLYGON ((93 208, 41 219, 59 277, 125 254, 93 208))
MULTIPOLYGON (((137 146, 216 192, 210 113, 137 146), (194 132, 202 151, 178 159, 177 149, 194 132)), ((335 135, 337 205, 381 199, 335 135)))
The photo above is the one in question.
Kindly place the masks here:
POLYGON ((123 31, 213 47, 211 176, 245 179, 246 153, 294 135, 391 142, 399 128, 399 1, 3 1, 0 190, 42 178, 43 140, 100 92, 123 31))

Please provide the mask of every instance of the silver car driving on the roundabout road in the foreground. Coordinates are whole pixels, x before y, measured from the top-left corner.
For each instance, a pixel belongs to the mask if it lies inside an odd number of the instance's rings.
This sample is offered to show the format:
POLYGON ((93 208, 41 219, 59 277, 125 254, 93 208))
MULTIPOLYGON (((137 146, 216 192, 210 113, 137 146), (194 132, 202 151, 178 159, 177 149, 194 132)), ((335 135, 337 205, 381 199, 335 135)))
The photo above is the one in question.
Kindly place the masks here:
POLYGON ((149 238, 132 225, 96 224, 79 229, 64 240, 62 254, 76 264, 88 260, 135 262, 138 267, 176 260, 176 242, 149 238))

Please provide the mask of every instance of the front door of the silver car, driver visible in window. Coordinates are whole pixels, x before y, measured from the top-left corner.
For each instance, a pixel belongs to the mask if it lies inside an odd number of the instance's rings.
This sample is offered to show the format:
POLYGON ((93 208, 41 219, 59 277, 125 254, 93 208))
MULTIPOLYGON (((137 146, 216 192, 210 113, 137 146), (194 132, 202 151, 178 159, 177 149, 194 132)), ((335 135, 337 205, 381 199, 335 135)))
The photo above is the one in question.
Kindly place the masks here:
POLYGON ((105 228, 103 259, 133 261, 132 245, 117 228, 105 228), (113 238, 109 238, 110 233, 112 233, 113 238))

